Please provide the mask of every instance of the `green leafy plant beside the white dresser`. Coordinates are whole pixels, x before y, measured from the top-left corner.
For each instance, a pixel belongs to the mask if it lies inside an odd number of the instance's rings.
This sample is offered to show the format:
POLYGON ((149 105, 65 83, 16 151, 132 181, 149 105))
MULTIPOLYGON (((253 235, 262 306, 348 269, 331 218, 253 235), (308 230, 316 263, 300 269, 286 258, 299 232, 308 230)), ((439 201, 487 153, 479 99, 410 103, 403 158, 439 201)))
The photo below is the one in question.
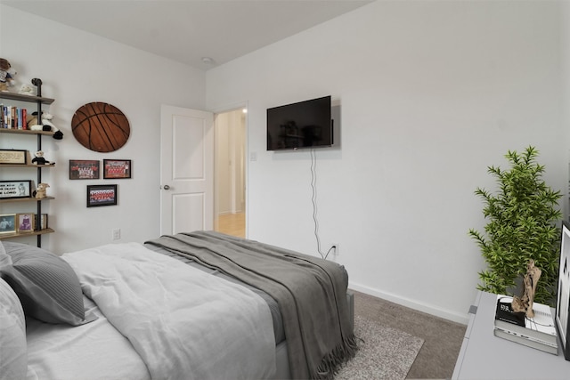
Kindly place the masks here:
POLYGON ((538 150, 505 155, 510 170, 489 166, 499 185, 496 195, 477 188, 475 193, 485 202, 483 214, 489 222, 485 234, 469 230, 485 258, 487 269, 479 272, 482 281, 477 289, 513 295, 517 281, 526 273, 526 264, 534 260, 542 270, 534 301, 553 305, 558 283, 560 229, 558 209, 560 191, 553 191, 542 180, 544 166, 536 162, 538 150))

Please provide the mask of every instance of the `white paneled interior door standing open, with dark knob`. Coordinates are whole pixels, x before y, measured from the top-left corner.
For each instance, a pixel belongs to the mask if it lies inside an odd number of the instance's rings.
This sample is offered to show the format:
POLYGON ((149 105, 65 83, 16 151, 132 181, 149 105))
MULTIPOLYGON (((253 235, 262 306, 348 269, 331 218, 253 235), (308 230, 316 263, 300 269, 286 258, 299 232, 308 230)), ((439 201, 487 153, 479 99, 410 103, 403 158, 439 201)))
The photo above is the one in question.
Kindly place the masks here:
POLYGON ((160 109, 160 234, 214 228, 214 116, 160 109))

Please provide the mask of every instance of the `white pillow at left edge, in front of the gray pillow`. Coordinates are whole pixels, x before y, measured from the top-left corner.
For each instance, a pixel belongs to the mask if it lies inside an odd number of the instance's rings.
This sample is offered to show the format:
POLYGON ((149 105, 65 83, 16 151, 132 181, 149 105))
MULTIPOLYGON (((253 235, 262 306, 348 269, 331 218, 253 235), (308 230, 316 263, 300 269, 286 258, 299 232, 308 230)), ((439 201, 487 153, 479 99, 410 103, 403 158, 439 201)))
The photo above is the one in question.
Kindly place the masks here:
POLYGON ((0 380, 23 379, 27 372, 28 346, 24 311, 18 295, 0 278, 0 380))

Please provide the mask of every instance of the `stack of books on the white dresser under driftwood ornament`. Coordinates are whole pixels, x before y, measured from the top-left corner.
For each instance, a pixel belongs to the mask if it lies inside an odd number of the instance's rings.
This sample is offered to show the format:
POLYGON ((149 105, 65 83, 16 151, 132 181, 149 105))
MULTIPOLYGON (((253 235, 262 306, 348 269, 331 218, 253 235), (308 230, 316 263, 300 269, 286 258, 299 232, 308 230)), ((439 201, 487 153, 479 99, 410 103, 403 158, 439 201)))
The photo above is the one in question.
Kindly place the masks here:
POLYGON ((509 295, 497 295, 494 335, 558 355, 557 331, 550 306, 533 303, 534 317, 513 311, 509 295))

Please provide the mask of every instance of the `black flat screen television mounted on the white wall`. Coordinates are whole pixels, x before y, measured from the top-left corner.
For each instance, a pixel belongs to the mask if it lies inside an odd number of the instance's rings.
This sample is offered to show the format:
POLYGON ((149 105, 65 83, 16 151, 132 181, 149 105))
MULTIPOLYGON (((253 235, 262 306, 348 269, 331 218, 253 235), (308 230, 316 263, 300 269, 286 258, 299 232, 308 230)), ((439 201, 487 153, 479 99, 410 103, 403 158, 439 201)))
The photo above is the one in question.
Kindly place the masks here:
POLYGON ((330 96, 267 109, 267 150, 330 147, 330 96))

